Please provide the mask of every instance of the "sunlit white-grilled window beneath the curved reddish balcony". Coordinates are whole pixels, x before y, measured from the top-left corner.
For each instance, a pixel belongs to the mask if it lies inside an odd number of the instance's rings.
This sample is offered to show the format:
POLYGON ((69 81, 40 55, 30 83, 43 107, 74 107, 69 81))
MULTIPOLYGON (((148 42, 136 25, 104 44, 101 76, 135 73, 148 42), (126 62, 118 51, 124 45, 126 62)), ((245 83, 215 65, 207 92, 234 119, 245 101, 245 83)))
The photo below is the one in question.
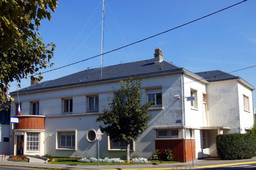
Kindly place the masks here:
POLYGON ((27 133, 27 151, 39 151, 39 133, 27 133))

